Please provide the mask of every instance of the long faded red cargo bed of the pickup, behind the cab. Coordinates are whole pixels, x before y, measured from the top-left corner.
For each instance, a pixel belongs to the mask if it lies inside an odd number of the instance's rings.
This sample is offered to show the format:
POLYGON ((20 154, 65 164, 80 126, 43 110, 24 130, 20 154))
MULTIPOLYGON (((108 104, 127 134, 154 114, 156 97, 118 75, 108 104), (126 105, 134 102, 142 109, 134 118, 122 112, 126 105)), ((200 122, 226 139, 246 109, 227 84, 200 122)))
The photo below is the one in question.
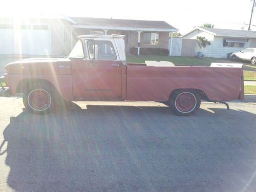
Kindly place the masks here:
POLYGON ((158 67, 127 63, 126 100, 166 101, 176 89, 201 90, 212 101, 238 99, 243 90, 242 65, 228 64, 158 67))

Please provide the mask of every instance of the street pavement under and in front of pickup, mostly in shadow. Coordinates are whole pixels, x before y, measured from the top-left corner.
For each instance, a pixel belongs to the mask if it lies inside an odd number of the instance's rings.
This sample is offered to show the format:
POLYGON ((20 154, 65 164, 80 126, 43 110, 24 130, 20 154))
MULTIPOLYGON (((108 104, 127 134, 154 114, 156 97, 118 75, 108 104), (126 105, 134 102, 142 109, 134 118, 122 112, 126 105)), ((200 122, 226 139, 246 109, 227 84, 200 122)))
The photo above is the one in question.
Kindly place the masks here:
POLYGON ((256 105, 76 102, 40 116, 0 97, 0 191, 255 191, 256 105), (101 104, 101 105, 97 105, 101 104))

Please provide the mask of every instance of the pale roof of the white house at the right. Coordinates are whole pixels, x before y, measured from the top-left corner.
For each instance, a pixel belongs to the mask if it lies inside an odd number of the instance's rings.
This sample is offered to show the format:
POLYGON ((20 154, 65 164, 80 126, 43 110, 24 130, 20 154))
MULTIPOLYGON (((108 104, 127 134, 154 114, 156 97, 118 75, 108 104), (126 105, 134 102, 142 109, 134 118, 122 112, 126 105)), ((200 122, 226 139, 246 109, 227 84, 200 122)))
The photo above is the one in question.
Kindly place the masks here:
POLYGON ((256 31, 234 30, 234 29, 216 29, 216 28, 202 28, 204 30, 215 33, 216 36, 234 36, 244 38, 256 38, 256 31))

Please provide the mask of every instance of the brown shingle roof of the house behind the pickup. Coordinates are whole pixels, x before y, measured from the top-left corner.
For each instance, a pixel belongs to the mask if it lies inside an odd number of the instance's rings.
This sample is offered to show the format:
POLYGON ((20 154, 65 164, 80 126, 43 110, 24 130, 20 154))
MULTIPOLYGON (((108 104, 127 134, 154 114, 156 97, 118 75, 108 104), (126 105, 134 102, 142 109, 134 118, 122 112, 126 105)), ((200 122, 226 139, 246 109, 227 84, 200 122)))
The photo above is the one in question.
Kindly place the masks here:
POLYGON ((110 19, 92 17, 69 17, 79 25, 101 26, 101 27, 131 27, 131 28, 154 28, 154 29, 176 29, 164 21, 158 20, 130 20, 110 19))

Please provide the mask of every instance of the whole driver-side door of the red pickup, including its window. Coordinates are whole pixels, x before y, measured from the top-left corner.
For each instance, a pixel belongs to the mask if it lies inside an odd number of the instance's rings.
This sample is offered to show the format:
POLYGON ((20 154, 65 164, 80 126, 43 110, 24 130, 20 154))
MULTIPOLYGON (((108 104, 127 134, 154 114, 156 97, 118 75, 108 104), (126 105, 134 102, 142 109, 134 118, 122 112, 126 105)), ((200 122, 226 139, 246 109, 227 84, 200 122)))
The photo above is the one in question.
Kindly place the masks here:
POLYGON ((121 100, 122 65, 113 42, 87 40, 86 59, 73 59, 75 100, 121 100))

